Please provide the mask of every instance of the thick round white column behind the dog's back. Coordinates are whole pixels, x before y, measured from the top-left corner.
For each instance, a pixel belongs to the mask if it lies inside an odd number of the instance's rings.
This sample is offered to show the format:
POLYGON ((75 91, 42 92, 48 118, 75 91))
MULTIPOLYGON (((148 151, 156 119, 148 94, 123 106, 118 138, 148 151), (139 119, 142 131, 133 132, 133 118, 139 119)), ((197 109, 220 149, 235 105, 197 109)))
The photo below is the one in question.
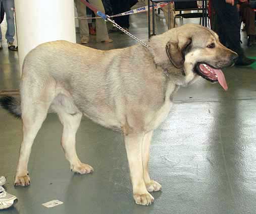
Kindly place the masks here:
POLYGON ((15 0, 20 70, 26 54, 55 40, 76 42, 73 0, 15 0))

